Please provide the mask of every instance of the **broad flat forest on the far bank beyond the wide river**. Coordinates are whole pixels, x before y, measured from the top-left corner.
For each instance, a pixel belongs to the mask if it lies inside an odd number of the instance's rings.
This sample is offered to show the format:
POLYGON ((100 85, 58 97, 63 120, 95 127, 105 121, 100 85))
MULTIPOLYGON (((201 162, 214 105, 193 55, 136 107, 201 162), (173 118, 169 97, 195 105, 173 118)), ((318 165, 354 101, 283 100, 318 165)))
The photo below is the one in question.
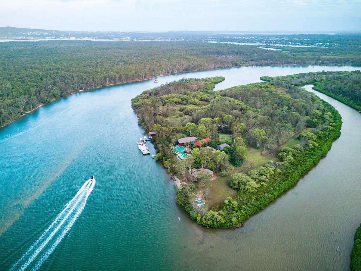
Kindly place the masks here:
POLYGON ((250 65, 361 65, 354 52, 319 50, 208 42, 1 42, 0 126, 82 89, 160 75, 250 65))

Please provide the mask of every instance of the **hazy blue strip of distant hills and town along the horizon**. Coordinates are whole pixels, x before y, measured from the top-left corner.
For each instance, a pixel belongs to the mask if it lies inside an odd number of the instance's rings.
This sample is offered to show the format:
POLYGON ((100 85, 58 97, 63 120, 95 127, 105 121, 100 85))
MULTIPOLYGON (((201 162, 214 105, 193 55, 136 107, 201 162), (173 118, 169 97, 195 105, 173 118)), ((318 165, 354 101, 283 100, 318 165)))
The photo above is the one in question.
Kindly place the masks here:
MULTIPOLYGON (((0 40, 128 40, 128 41, 187 41, 240 43, 271 48, 319 47, 361 51, 361 34, 357 30, 315 34, 286 31, 168 31, 168 32, 121 32, 121 31, 60 31, 17 27, 0 27, 0 40), (279 46, 279 47, 278 47, 279 46)), ((290 50, 290 48, 288 48, 290 50)), ((301 49, 299 49, 300 51, 301 49)), ((302 51, 302 50, 301 50, 302 51)))

